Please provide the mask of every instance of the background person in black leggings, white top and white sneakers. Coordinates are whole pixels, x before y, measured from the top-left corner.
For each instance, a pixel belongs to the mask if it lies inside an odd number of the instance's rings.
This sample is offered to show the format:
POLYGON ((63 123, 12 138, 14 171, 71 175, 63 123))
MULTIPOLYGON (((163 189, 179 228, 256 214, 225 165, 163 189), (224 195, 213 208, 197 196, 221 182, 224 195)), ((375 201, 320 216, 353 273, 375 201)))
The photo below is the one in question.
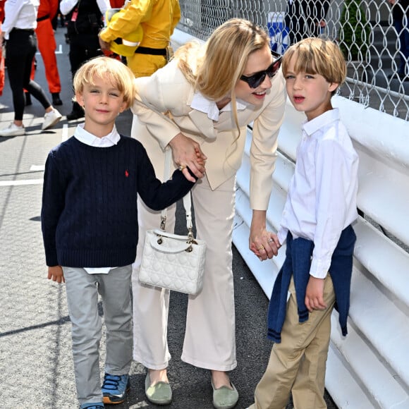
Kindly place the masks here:
POLYGON ((5 19, 0 35, 0 47, 6 42, 6 67, 13 94, 14 121, 8 128, 0 130, 0 136, 25 135, 23 114, 24 89, 44 106, 42 130, 51 128, 61 120, 59 111, 49 102, 44 90, 30 80, 32 59, 37 51, 35 28, 39 0, 14 0, 4 4, 5 19))

